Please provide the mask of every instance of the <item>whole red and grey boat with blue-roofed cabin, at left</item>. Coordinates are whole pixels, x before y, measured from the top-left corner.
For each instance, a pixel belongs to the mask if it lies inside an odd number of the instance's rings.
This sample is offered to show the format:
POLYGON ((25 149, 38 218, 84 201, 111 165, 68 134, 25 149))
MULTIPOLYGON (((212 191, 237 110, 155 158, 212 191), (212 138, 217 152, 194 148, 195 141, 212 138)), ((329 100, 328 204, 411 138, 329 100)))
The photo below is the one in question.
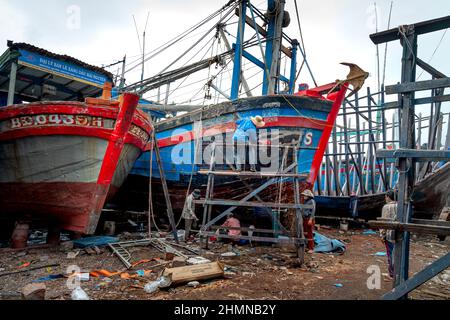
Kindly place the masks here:
POLYGON ((0 218, 42 219, 63 230, 95 233, 105 203, 147 147, 150 123, 136 110, 139 97, 126 93, 113 100, 112 84, 103 83, 107 73, 30 45, 11 44, 3 57, 2 67, 17 81, 10 82, 8 105, 0 107, 0 218), (31 91, 38 84, 29 81, 37 75, 52 79, 45 84, 54 88, 47 101, 31 91), (86 85, 86 77, 96 82, 86 85), (97 95, 102 85, 100 98, 62 100, 73 92, 87 94, 76 88, 97 95))

